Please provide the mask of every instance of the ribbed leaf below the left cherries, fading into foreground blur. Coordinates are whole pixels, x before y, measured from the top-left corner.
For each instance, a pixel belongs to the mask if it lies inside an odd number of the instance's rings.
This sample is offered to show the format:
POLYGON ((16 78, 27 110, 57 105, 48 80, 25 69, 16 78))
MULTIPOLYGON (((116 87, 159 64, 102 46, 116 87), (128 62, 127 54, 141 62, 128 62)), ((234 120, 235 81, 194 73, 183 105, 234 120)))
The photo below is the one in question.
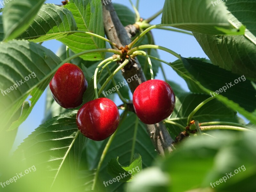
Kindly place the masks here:
POLYGON ((40 184, 50 187, 59 173, 76 174, 86 138, 76 125, 77 110, 68 111, 40 125, 19 146, 15 155, 23 155, 26 164, 34 164, 40 184), (64 170, 63 170, 64 169, 64 170))

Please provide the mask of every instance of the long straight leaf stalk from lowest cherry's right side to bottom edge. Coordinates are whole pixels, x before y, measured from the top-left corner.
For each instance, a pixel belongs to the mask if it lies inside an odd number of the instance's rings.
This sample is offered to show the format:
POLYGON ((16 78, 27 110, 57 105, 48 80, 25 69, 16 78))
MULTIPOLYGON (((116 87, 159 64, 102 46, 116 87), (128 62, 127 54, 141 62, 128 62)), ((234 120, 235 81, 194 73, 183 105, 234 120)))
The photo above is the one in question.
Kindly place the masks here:
POLYGON ((108 142, 107 142, 107 144, 106 144, 106 146, 105 146, 105 148, 104 148, 104 150, 103 150, 103 152, 101 154, 100 161, 99 161, 99 164, 97 166, 97 170, 96 170, 96 173, 95 173, 95 176, 94 176, 94 180, 93 180, 93 184, 92 184, 92 190, 95 190, 97 179, 98 179, 98 176, 99 176, 99 173, 100 173, 100 167, 101 167, 101 165, 102 165, 102 163, 103 163, 103 161, 104 161, 104 159, 105 159, 105 157, 107 155, 108 149, 109 149, 112 141, 114 140, 114 138, 116 136, 117 131, 121 127, 122 123, 124 122, 124 119, 125 119, 127 113, 128 113, 128 111, 125 110, 124 114, 123 114, 123 117, 122 117, 122 119, 121 119, 121 121, 120 121, 120 123, 119 123, 119 125, 118 125, 118 127, 116 129, 116 131, 113 133, 113 135, 110 136, 110 138, 109 138, 109 140, 108 140, 108 142))

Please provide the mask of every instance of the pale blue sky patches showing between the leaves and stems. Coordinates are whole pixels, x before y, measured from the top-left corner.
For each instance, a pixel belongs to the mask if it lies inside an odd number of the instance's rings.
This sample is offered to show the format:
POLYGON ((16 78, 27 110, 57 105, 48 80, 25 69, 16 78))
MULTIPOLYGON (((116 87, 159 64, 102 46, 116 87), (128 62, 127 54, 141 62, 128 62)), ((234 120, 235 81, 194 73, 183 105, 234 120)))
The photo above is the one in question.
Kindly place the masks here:
MULTIPOLYGON (((46 3, 53 3, 53 4, 61 4, 60 2, 61 0, 46 1, 46 3)), ((136 4, 136 0, 132 0, 132 2, 136 4)), ((128 0, 113 0, 113 3, 124 4, 128 6, 130 9, 132 9, 132 6, 128 0)), ((164 6, 164 0, 158 0, 158 1, 140 0, 140 7, 139 7, 140 16, 144 19, 147 19, 148 17, 152 16, 153 14, 161 10, 163 6, 164 6)), ((151 22, 151 24, 159 24, 159 23, 161 23, 161 15, 151 22)), ((153 29, 152 33, 153 33, 156 45, 167 47, 173 50, 174 52, 179 53, 182 57, 208 58, 203 52, 202 48, 197 43, 194 36, 178 33, 178 32, 166 31, 162 29, 153 29)), ((42 45, 50 49, 52 52, 56 53, 61 43, 57 40, 50 40, 50 41, 44 42, 42 45)), ((158 51, 158 53, 160 55, 160 58, 165 61, 173 62, 177 60, 176 57, 170 55, 167 52, 158 51)), ((172 80, 180 84, 180 86, 184 90, 189 91, 186 82, 180 76, 178 76, 177 73, 174 72, 171 67, 167 66, 166 64, 163 64, 163 67, 168 80, 172 80)), ((157 74, 156 79, 163 79, 163 75, 161 72, 157 74)), ((17 148, 17 146, 19 146, 20 143, 26 137, 28 137, 28 135, 31 132, 33 132, 42 123, 42 120, 44 118, 45 100, 46 100, 46 92, 42 94, 42 96, 36 103, 35 107, 33 108, 32 112, 26 119, 26 121, 20 125, 15 143, 13 146, 13 150, 15 150, 15 148, 17 148)), ((118 105, 119 103, 120 101, 117 100, 116 104, 118 105)))

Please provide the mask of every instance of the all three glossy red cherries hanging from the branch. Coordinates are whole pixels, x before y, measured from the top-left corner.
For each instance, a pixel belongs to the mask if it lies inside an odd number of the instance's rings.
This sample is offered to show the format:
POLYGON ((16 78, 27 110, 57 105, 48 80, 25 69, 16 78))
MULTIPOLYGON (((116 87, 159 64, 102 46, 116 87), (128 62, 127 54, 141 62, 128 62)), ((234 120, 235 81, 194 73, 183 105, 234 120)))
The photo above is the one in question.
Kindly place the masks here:
MULTIPOLYGON (((87 81, 76 65, 65 63, 50 82, 54 100, 63 108, 76 108, 83 103, 87 81)), ((133 107, 145 124, 156 124, 170 116, 175 107, 175 95, 169 84, 149 80, 140 84, 133 94, 133 107)), ((108 98, 85 103, 76 115, 76 124, 84 136, 100 141, 112 135, 119 124, 116 104, 108 98)))

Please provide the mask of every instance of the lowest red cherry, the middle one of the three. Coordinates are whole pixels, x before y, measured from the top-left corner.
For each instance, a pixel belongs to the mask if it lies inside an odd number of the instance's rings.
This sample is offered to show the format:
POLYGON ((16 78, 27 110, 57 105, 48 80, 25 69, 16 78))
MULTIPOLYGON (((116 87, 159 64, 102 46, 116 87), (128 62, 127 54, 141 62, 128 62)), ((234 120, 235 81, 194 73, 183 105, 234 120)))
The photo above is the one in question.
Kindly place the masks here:
POLYGON ((119 124, 116 104, 107 98, 98 98, 85 103, 76 115, 76 124, 89 139, 101 141, 112 135, 119 124))

